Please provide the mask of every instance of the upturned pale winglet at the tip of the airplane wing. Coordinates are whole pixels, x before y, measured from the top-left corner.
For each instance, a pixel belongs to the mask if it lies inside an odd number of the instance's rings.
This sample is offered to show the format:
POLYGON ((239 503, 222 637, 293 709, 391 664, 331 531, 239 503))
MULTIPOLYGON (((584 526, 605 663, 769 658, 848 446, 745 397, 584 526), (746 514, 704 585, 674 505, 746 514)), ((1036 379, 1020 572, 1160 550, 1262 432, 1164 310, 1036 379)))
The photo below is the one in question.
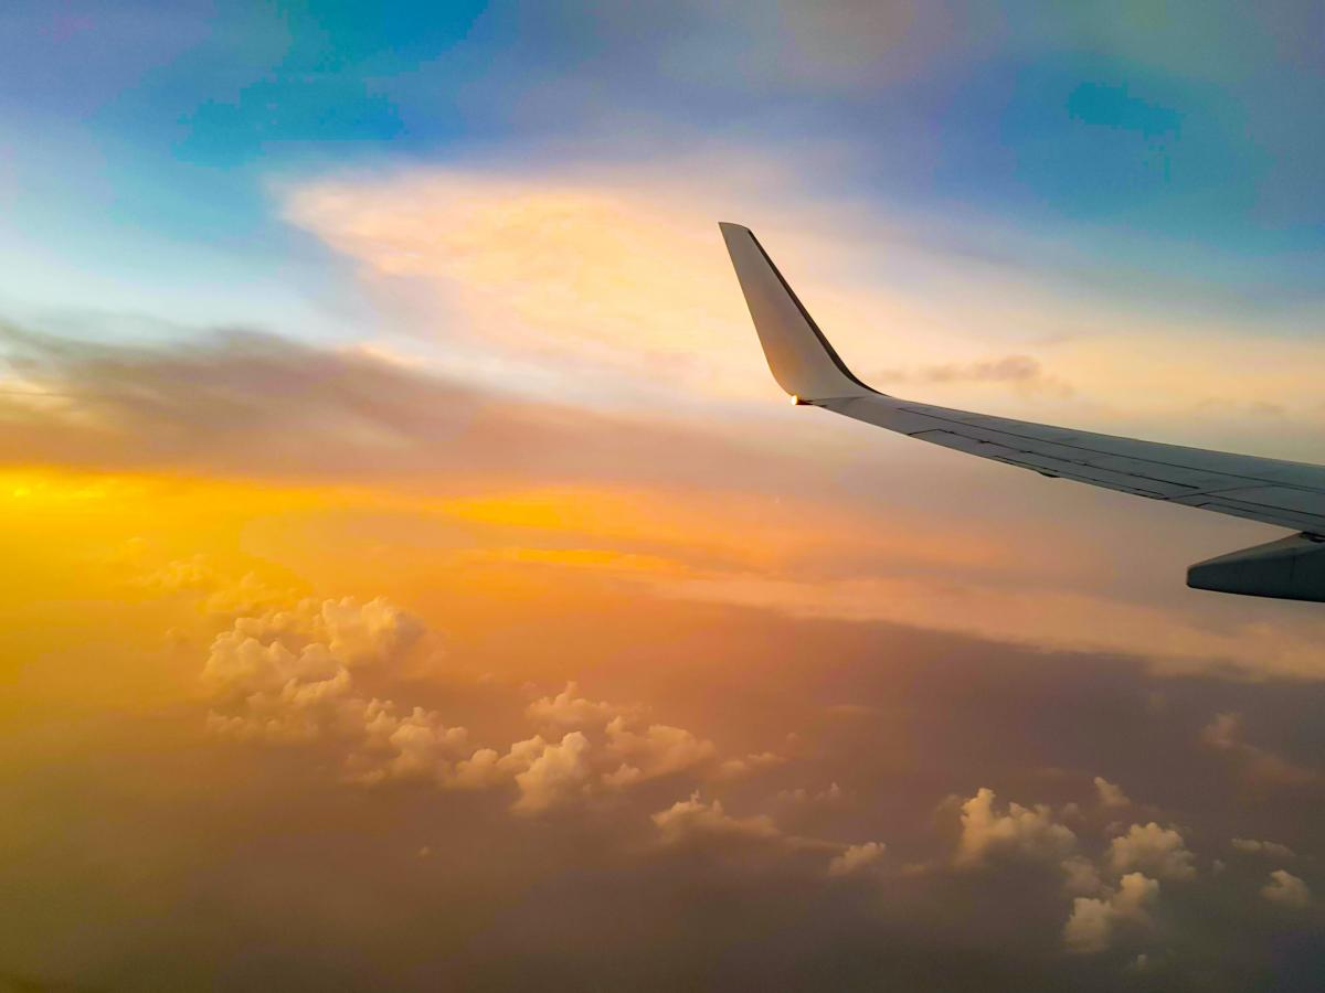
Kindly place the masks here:
POLYGON ((828 344, 823 331, 782 278, 754 232, 739 224, 718 224, 735 266, 763 356, 778 385, 794 402, 868 396, 867 387, 828 344))

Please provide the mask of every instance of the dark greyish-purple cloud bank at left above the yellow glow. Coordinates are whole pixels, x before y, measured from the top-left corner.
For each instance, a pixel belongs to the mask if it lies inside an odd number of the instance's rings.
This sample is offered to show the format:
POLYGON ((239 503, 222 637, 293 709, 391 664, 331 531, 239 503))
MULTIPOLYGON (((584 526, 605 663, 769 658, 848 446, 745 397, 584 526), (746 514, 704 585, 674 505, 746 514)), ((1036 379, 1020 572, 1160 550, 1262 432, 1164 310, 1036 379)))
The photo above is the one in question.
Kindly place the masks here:
POLYGON ((69 465, 380 471, 403 450, 421 457, 425 433, 454 438, 478 404, 454 383, 254 331, 107 344, 9 326, 0 340, 28 388, 50 397, 0 402, 9 459, 13 434, 36 429, 44 458, 69 465))

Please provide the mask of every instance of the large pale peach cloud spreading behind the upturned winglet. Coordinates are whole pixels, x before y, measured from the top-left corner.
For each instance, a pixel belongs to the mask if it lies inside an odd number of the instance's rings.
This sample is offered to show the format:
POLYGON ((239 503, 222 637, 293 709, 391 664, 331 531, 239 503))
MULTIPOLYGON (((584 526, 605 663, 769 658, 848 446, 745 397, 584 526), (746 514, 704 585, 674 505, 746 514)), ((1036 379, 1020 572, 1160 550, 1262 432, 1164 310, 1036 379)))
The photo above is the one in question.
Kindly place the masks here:
MULTIPOLYGON (((807 189, 799 179, 807 169, 780 166, 784 152, 779 147, 772 167, 770 156, 729 144, 662 162, 537 171, 331 173, 289 187, 284 211, 356 263, 370 287, 427 301, 417 323, 447 327, 449 342, 505 364, 537 356, 543 368, 571 367, 582 383, 607 389, 628 377, 639 396, 657 395, 660 384, 708 397, 771 396, 746 347, 746 315, 713 230, 714 217, 747 211, 859 369, 886 355, 906 361, 885 373, 896 381, 957 395, 1008 385, 1023 402, 1072 400, 1077 416, 1129 426, 1143 410, 1151 430, 1173 430, 1178 417, 1190 422, 1210 396, 1273 396, 1301 410, 1317 404, 1301 372, 1318 357, 1313 343, 1267 330, 1256 368, 1247 369, 1244 315, 1200 314, 1175 327, 1171 315, 1120 305, 1108 289, 1134 281, 1136 269, 1094 266, 1090 281, 1106 289, 1083 294, 1081 271, 1064 271, 1061 245, 1024 225, 970 224, 898 203, 863 212, 859 199, 822 184, 807 189), (741 179, 725 179, 733 176, 741 179), (885 270, 868 262, 881 248, 885 270), (1024 275, 1028 256, 1034 282, 1024 275), (909 332, 864 331, 880 327, 909 332), (1198 335, 1199 352, 1191 347, 1198 335), (970 360, 990 339, 1018 351, 970 360), (1057 342, 1052 373, 1019 351, 1030 340, 1057 342), (1136 363, 1141 347, 1151 359, 1143 365, 1136 363), (1174 363, 1189 371, 1182 383, 1169 375, 1174 363), (1116 404, 1120 384, 1129 388, 1126 416, 1116 404)), ((1310 437, 1297 440, 1304 451, 1310 437)))

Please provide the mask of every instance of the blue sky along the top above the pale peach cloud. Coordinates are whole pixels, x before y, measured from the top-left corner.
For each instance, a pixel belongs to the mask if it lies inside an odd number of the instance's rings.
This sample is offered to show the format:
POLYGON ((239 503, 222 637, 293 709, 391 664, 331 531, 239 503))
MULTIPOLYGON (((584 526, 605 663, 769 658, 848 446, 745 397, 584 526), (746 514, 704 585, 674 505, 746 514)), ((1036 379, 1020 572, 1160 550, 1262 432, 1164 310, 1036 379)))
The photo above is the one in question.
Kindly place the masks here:
POLYGON ((11 217, 89 254, 258 266, 299 252, 273 176, 824 144, 843 151, 823 181, 865 199, 1314 299, 1310 4, 914 7, 20 3, 0 42, 11 217))

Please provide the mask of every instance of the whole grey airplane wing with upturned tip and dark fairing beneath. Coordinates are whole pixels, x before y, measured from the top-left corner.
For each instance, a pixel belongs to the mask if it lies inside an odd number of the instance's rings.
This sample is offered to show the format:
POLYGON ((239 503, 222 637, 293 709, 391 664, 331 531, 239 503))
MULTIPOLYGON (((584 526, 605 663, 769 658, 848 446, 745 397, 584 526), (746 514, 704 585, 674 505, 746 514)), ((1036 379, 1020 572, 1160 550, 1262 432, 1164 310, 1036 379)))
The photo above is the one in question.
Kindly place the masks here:
POLYGON ((800 405, 1041 475, 1298 531, 1192 565, 1198 589, 1325 602, 1325 466, 1162 445, 900 400, 865 385, 749 228, 721 224, 765 357, 800 405))

